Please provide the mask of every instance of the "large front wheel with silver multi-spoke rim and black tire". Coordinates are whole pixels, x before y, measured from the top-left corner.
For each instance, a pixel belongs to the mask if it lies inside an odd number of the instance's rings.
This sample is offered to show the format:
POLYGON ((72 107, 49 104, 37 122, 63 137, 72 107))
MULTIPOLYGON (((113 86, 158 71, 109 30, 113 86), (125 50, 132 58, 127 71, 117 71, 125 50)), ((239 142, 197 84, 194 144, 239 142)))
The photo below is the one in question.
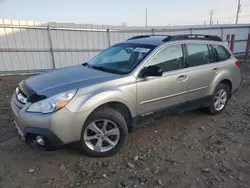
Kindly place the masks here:
POLYGON ((94 112, 93 114, 91 114, 90 117, 88 117, 86 122, 84 123, 81 132, 80 148, 83 153, 92 157, 111 156, 121 150, 121 148, 124 146, 126 142, 127 135, 128 135, 128 127, 124 117, 117 110, 113 108, 108 108, 108 107, 101 108, 96 112, 94 112), (105 122, 107 122, 105 126, 106 128, 104 128, 105 122), (94 128, 95 132, 92 131, 93 126, 95 127, 94 128), (96 127, 98 129, 96 129, 96 127), (108 128, 110 128, 110 130, 108 130, 108 128), (115 133, 117 135, 105 136, 105 132, 108 133, 109 131, 111 131, 111 129, 112 131, 116 130, 115 133), (102 133, 100 134, 98 130, 101 130, 102 133), (118 136, 118 130, 119 130, 119 136, 118 136), (91 135, 89 136, 89 134, 91 135), (94 139, 88 140, 88 138, 92 138, 91 137, 92 135, 94 139), (109 142, 107 142, 106 139, 112 141, 112 143, 116 143, 116 145, 110 144, 110 146, 108 147, 107 145, 109 145, 109 142), (103 149, 102 151, 100 151, 100 147, 97 147, 98 149, 96 149, 98 141, 102 142, 101 144, 99 144, 101 146, 104 146, 102 148, 111 148, 111 147, 113 148, 109 150, 103 149))

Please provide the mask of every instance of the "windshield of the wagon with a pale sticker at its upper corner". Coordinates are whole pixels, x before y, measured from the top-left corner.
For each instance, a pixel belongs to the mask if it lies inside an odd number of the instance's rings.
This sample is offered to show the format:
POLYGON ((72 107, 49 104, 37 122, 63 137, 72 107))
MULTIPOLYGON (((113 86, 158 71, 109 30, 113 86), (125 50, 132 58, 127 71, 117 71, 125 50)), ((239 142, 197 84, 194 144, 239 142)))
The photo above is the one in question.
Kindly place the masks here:
POLYGON ((152 45, 118 44, 103 51, 88 65, 102 71, 117 74, 131 72, 154 48, 152 45))

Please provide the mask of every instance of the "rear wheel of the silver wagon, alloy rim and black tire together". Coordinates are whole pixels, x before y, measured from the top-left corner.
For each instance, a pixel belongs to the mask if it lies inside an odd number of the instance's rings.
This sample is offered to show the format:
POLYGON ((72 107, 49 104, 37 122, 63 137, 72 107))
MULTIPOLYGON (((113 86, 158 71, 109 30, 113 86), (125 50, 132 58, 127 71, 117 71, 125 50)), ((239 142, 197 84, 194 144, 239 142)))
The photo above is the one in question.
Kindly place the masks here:
POLYGON ((226 107, 230 96, 230 87, 226 84, 219 84, 213 95, 212 102, 209 107, 209 111, 213 115, 220 114, 226 107))

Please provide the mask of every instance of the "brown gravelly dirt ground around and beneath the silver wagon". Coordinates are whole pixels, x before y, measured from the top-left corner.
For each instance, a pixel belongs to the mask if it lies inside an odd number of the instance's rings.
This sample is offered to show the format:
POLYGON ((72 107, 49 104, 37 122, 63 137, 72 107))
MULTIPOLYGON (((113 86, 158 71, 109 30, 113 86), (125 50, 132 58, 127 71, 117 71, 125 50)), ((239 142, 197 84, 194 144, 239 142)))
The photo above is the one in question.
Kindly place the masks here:
POLYGON ((90 158, 77 145, 43 152, 17 136, 9 101, 27 76, 0 77, 0 188, 250 187, 250 66, 224 113, 195 110, 129 135, 123 150, 90 158))

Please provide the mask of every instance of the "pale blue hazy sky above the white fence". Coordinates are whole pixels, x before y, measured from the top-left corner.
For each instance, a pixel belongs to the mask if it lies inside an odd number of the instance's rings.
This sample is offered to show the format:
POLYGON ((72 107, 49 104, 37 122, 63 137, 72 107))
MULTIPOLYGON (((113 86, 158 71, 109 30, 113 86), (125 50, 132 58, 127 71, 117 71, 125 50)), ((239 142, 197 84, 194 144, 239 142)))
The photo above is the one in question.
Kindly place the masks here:
MULTIPOLYGON (((238 0, 0 0, 0 18, 89 24, 189 25, 233 23, 238 0)), ((241 0, 239 23, 250 23, 250 0, 241 0)))

